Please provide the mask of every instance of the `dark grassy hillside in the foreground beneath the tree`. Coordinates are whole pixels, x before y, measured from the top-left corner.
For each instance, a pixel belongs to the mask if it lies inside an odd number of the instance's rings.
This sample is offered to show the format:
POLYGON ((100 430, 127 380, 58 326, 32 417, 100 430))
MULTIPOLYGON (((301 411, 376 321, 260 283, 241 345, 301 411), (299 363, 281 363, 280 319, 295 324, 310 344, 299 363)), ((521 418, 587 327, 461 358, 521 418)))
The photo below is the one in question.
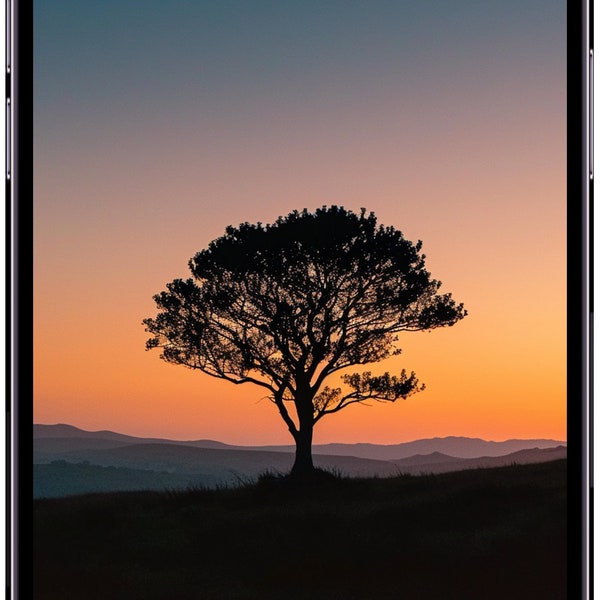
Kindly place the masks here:
POLYGON ((566 461, 34 502, 35 598, 566 598, 566 461))

